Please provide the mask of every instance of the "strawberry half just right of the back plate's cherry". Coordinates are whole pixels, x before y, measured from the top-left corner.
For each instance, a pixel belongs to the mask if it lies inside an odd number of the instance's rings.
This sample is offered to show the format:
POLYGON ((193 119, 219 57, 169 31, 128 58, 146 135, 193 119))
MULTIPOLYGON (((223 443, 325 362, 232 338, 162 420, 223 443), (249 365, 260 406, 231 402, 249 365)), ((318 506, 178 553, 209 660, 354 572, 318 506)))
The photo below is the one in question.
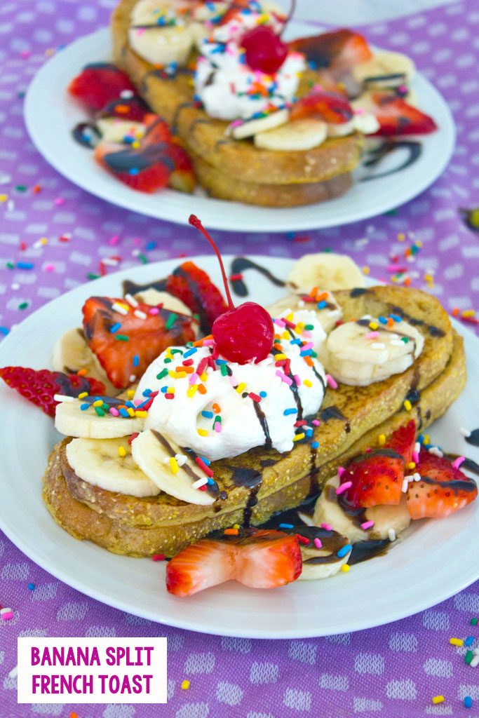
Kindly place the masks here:
POLYGON ((371 60, 373 56, 363 35, 345 28, 301 37, 289 42, 289 48, 303 52, 309 62, 316 67, 327 68, 335 75, 341 75, 358 62, 371 60))

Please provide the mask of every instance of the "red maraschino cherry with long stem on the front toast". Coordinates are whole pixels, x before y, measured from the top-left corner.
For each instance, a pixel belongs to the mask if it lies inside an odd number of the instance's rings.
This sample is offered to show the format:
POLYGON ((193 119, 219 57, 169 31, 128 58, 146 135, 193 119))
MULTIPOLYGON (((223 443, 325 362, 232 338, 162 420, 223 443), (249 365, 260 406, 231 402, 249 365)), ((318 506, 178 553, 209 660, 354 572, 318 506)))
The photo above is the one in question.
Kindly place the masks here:
POLYGON ((218 247, 195 215, 190 215, 188 221, 208 239, 218 257, 223 276, 229 309, 213 322, 213 339, 218 352, 228 361, 238 364, 246 364, 248 361, 258 363, 266 359, 274 340, 271 317, 266 309, 255 302, 244 302, 235 307, 218 247))

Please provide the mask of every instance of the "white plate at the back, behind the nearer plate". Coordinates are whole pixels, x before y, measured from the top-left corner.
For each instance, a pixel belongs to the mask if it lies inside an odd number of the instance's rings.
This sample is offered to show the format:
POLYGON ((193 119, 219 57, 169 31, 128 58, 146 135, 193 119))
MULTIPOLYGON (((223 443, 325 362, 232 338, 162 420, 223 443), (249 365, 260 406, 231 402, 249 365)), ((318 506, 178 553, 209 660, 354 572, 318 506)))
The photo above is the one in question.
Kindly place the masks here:
MULTIPOLYGON (((311 32, 309 25, 297 22, 291 34, 311 32)), ((109 49, 108 29, 101 29, 57 52, 28 88, 25 121, 37 149, 68 180, 103 200, 143 215, 187 224, 190 213, 195 213, 207 227, 236 231, 241 228, 245 232, 286 232, 348 224, 387 212, 419 195, 440 176, 454 149, 455 126, 450 110, 437 90, 419 73, 414 80, 414 90, 439 130, 421 140, 422 155, 410 167, 390 177, 355 182, 344 197, 309 207, 275 209, 173 190, 154 195, 135 192, 98 167, 92 152, 75 142, 71 135, 75 124, 85 121, 86 114, 68 98, 67 85, 88 62, 108 60, 109 49)), ((404 159, 403 151, 399 150, 376 171, 398 167, 404 159)), ((358 173, 363 170, 358 169, 358 173)))

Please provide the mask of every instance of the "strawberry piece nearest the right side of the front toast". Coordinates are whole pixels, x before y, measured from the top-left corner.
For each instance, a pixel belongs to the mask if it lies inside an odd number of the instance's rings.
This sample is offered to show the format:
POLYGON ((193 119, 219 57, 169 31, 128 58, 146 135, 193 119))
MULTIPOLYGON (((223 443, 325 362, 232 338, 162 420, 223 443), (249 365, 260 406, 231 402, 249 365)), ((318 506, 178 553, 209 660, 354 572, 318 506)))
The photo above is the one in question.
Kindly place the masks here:
POLYGON ((396 429, 383 447, 353 459, 341 476, 342 484, 352 482, 352 486, 340 494, 340 501, 353 509, 398 504, 415 437, 416 426, 409 421, 396 429))

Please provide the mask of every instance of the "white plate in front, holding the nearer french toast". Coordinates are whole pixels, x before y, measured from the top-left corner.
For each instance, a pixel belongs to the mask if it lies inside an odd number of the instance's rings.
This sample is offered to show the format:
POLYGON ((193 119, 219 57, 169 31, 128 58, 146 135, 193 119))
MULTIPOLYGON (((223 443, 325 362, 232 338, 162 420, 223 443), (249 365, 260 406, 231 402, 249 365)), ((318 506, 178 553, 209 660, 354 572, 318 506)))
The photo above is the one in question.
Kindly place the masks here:
MULTIPOLYGON (((229 262, 231 257, 226 258, 229 262)), ((255 257, 279 277, 291 261, 255 257)), ((220 282, 215 258, 197 263, 220 282)), ((51 365, 52 345, 65 330, 80 324, 80 309, 92 292, 115 296, 121 281, 139 283, 165 276, 177 260, 128 269, 85 284, 46 304, 0 344, 0 366, 51 365)), ((251 298, 274 302, 282 290, 246 273, 251 298), (256 280, 256 281, 255 281, 256 280)), ((479 340, 465 338, 468 388, 432 429, 435 442, 479 461, 479 450, 458 431, 478 424, 479 340)), ((255 591, 235 582, 189 599, 167 594, 164 564, 114 556, 62 531, 41 498, 41 478, 58 439, 51 419, 0 382, 0 526, 27 556, 81 592, 108 605, 180 628, 248 638, 298 638, 369 628, 411 615, 460 591, 479 577, 477 560, 479 501, 440 521, 419 521, 386 556, 354 566, 322 582, 297 582, 282 589, 255 591), (384 587, 387 590, 384 590, 384 587)))

